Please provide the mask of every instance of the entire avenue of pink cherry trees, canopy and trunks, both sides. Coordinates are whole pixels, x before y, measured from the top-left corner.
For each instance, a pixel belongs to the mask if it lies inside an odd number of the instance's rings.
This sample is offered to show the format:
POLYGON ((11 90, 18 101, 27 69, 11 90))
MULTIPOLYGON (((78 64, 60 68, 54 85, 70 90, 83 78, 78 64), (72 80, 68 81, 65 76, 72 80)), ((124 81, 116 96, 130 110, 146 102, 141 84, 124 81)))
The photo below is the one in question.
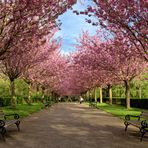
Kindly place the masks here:
MULTIPOLYGON (((131 84, 147 72, 147 2, 144 0, 94 0, 85 15, 94 15, 102 28, 95 35, 82 32, 68 56, 60 53, 62 39, 57 18, 76 0, 1 0, 0 64, 1 73, 10 80, 11 105, 16 106, 15 80, 28 85, 27 103, 31 104, 31 87, 44 95, 90 95, 108 88, 112 104, 112 86, 125 87, 126 107, 130 108, 131 84)), ((76 11, 77 12, 77 11, 76 11)), ((78 12, 76 14, 79 14, 78 12)), ((77 16, 79 17, 79 16, 77 16)), ((98 25, 87 20, 92 25, 98 25)), ((96 94, 94 96, 95 100, 96 94)))

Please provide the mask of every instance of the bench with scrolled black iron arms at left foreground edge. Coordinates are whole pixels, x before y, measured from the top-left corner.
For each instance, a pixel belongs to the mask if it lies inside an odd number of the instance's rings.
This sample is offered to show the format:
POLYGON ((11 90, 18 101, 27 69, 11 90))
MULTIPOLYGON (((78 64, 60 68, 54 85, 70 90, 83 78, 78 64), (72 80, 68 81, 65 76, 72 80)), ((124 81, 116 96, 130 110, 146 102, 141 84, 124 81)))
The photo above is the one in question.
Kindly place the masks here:
POLYGON ((5 141, 6 129, 16 124, 18 131, 20 131, 20 120, 18 114, 8 114, 5 115, 2 110, 0 110, 0 137, 5 141))

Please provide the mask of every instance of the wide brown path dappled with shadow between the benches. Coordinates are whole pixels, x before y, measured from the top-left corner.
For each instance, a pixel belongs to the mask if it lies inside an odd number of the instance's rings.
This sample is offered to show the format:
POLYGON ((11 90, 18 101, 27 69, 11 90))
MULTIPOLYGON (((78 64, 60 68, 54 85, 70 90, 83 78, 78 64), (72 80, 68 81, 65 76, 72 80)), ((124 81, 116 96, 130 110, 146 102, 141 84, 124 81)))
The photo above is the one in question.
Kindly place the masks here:
POLYGON ((84 104, 60 103, 21 121, 21 131, 8 130, 1 148, 147 148, 137 129, 124 132, 123 121, 84 104))

